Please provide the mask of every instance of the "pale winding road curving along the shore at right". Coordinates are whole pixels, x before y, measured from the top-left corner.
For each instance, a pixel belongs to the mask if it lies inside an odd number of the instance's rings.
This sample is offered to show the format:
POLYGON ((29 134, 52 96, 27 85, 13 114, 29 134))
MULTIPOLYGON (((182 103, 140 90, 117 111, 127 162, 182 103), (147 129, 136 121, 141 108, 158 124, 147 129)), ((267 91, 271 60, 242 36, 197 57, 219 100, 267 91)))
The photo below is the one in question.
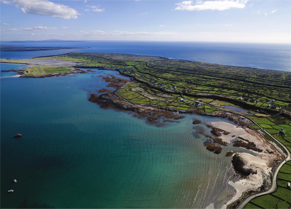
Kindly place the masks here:
MULTIPOLYGON (((183 94, 181 94, 181 97, 184 98, 184 99, 187 99, 183 96, 183 94)), ((193 101, 191 99, 188 99, 190 101, 193 101)), ((207 102, 205 102, 207 103, 207 102)), ((209 103, 207 103, 208 105, 210 105, 209 103)), ((210 105, 212 106, 212 105, 210 105)), ((217 107, 216 107, 217 108, 217 107)), ((219 108, 218 108, 219 109, 219 108)), ((224 110, 225 111, 225 110, 224 110)), ((227 112, 231 112, 231 111, 227 111, 227 112)), ((282 112, 282 111, 281 111, 282 112)), ((280 114, 281 114, 280 112, 280 114)), ((249 203, 249 201, 251 201, 253 198, 255 197, 259 197, 261 195, 264 195, 264 194, 269 194, 269 193, 272 193, 272 192, 275 192, 275 190, 277 189, 277 175, 278 175, 278 172, 280 170, 280 168, 285 164, 285 162, 291 160, 291 153, 289 152, 289 150, 287 149, 287 147, 285 147, 281 142, 279 142, 275 137, 273 137, 271 134, 269 134, 267 131, 265 131, 259 124, 257 124, 255 121, 253 121, 251 118, 245 116, 245 115, 242 115, 242 114, 239 114, 239 113, 235 113, 235 112, 231 112, 233 114, 236 114, 236 115, 240 115, 248 120, 250 120, 251 122, 253 122, 254 124, 256 124, 262 131, 264 131, 267 135, 269 135, 273 140, 275 140, 276 142, 278 142, 282 147, 283 149, 285 149, 286 153, 287 153, 287 156, 286 158, 278 165, 278 167, 276 168, 275 172, 274 172, 274 175, 273 175, 273 178, 272 178, 272 184, 271 184, 271 187, 269 190, 266 190, 264 192, 259 192, 259 193, 256 193, 256 194, 253 194, 253 195, 250 195, 249 197, 247 197, 246 199, 244 199, 244 201, 242 201, 239 206, 237 208, 244 208, 244 206, 246 206, 247 203, 249 203)), ((277 114, 279 115, 279 114, 277 114)))

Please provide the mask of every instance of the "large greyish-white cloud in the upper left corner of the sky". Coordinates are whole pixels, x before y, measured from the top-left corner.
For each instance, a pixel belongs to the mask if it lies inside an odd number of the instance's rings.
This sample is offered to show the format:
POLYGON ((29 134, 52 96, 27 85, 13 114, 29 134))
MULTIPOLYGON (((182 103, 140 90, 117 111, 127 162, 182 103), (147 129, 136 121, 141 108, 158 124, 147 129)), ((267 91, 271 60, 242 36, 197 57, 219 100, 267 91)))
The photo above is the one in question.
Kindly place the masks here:
POLYGON ((78 18, 79 13, 60 3, 53 3, 46 0, 14 0, 14 1, 1 1, 5 4, 14 5, 17 8, 21 8, 21 11, 24 14, 35 14, 35 15, 46 15, 52 17, 60 17, 64 19, 76 19, 78 18))

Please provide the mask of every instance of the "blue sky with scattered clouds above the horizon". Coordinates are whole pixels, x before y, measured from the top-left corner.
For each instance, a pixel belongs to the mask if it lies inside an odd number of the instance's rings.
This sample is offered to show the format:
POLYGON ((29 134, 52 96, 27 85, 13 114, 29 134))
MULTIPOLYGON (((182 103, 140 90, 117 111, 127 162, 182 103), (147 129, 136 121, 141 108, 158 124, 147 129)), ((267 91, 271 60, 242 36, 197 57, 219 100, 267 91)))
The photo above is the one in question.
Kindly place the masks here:
POLYGON ((291 1, 1 0, 0 40, 291 43, 291 1))

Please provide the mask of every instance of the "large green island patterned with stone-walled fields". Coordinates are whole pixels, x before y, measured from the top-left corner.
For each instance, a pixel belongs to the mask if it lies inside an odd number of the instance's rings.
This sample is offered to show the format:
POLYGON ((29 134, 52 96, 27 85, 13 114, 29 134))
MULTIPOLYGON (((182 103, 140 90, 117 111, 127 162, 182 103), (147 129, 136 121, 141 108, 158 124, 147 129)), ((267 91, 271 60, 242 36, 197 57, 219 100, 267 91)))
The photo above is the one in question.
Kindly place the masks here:
POLYGON ((290 72, 113 53, 0 61, 28 65, 14 70, 21 78, 119 71, 128 79, 99 75, 115 90, 99 90, 102 94, 90 94, 88 100, 134 113, 155 126, 178 121, 180 113, 227 118, 236 125, 204 124, 210 133, 200 128, 203 122, 193 121, 195 134, 207 137, 205 149, 214 155, 226 150, 225 158, 232 157, 233 169, 241 176, 230 183, 237 193, 227 207, 260 207, 260 201, 272 199, 274 208, 290 208, 290 72), (237 147, 244 151, 233 151, 237 147))

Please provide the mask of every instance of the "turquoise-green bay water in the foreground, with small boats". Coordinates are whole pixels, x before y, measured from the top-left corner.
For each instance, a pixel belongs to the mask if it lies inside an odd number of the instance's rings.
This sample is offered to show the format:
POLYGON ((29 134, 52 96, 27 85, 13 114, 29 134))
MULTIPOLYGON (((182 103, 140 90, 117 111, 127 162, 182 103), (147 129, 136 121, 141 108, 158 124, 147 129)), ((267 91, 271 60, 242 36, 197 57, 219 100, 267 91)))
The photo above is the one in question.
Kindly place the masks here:
POLYGON ((195 127, 210 130, 192 124, 226 119, 185 115, 157 127, 89 102, 107 85, 98 75, 122 77, 115 71, 7 74, 1 72, 1 208, 217 208, 234 196, 231 158, 207 151, 195 127), (22 137, 11 137, 16 133, 22 137))

